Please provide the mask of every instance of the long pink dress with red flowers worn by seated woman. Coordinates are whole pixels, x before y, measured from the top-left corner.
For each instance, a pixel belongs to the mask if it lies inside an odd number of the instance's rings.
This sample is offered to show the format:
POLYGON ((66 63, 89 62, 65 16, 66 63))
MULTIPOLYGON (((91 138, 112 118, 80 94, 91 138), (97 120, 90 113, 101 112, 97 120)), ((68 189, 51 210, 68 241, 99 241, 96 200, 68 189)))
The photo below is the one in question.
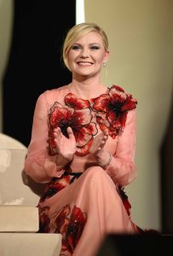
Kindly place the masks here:
POLYGON ((56 169, 55 127, 66 136, 71 126, 77 141, 72 162, 47 181, 38 202, 39 232, 62 234, 61 255, 95 256, 107 234, 141 231, 131 221, 124 193, 124 186, 136 178, 136 103, 117 85, 90 100, 78 98, 67 85, 46 90, 37 99, 26 173, 41 182, 46 170, 56 169), (89 147, 105 129, 112 160, 103 170, 89 147))

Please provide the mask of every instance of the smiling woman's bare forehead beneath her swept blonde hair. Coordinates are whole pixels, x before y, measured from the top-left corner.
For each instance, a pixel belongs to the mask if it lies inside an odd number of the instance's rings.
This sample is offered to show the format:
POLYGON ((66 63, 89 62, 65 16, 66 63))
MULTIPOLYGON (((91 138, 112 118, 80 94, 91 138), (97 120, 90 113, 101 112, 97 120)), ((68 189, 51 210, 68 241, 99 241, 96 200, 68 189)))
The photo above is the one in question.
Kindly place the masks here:
POLYGON ((98 32, 88 32, 74 43, 76 44, 103 44, 103 39, 98 32))

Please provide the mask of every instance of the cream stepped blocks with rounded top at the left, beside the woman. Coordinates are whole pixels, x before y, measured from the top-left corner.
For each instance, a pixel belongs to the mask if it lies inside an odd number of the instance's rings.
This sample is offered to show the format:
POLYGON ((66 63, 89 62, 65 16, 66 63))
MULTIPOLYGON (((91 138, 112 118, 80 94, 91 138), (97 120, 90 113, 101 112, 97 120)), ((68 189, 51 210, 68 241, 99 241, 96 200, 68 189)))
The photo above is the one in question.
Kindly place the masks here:
POLYGON ((37 233, 37 201, 43 184, 23 172, 26 150, 0 133, 0 255, 58 256, 61 234, 37 233))

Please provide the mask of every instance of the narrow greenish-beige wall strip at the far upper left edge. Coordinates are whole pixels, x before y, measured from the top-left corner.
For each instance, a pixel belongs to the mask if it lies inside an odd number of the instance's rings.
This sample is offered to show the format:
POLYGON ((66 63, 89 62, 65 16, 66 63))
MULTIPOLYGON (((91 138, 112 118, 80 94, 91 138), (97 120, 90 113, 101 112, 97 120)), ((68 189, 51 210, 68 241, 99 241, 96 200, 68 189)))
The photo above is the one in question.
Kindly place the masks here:
POLYGON ((13 25, 13 0, 0 0, 0 132, 2 131, 2 80, 7 65, 13 25))

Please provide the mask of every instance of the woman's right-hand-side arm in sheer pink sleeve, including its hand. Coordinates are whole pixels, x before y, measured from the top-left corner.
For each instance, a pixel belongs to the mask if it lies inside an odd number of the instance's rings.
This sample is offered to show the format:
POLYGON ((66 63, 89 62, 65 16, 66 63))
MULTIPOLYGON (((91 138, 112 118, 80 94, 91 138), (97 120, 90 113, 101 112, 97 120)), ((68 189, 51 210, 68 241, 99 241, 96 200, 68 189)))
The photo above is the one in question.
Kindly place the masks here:
POLYGON ((117 148, 107 147, 107 139, 108 131, 95 137, 89 153, 95 155, 98 165, 112 177, 114 183, 125 186, 136 178, 136 109, 127 114, 124 132, 118 136, 117 148))

